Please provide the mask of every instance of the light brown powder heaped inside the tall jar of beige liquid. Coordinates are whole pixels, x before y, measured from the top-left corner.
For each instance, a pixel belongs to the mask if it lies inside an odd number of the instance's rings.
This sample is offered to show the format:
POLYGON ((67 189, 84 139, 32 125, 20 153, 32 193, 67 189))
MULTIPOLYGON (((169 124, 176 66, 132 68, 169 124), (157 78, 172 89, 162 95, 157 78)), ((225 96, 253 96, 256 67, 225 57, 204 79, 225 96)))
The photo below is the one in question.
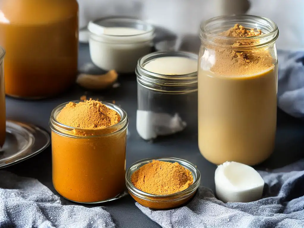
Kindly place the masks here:
MULTIPOLYGON (((244 26, 235 24, 227 31, 220 33, 221 36, 227 37, 257 37, 252 40, 237 40, 233 43, 235 47, 252 46, 259 43, 259 36, 262 35, 261 30, 247 29, 244 26)), ((219 41, 223 42, 228 41, 219 41)), ((265 48, 253 50, 233 50, 233 48, 215 48, 215 64, 211 67, 211 71, 224 76, 238 76, 257 74, 273 67, 272 57, 265 48)))

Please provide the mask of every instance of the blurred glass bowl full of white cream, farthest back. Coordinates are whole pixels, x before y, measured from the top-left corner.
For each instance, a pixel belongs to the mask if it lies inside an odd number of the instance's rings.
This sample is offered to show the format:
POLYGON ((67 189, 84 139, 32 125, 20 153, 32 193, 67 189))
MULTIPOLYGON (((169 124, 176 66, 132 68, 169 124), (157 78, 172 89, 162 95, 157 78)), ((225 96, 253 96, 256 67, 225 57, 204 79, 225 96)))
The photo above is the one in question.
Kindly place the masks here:
POLYGON ((103 70, 134 72, 137 60, 151 52, 154 26, 131 18, 90 21, 89 47, 92 62, 103 70))

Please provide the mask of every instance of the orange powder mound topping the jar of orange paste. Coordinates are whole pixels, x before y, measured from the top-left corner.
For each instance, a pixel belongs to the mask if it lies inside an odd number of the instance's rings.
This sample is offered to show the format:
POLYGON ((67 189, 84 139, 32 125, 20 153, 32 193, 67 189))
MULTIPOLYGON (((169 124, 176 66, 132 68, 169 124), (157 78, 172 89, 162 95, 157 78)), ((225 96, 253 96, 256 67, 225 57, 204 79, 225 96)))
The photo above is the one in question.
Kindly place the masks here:
POLYGON ((120 121, 119 114, 99 101, 69 102, 58 114, 57 121, 82 129, 106 128, 120 121))

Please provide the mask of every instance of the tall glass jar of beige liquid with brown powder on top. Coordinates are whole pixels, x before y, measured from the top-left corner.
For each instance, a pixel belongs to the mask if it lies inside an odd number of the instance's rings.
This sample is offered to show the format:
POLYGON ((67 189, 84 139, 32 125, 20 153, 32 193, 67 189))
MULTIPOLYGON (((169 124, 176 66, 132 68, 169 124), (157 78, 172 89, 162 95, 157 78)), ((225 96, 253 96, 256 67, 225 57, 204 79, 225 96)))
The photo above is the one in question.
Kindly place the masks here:
POLYGON ((199 150, 214 164, 266 160, 275 143, 278 28, 270 19, 221 16, 201 26, 199 150))

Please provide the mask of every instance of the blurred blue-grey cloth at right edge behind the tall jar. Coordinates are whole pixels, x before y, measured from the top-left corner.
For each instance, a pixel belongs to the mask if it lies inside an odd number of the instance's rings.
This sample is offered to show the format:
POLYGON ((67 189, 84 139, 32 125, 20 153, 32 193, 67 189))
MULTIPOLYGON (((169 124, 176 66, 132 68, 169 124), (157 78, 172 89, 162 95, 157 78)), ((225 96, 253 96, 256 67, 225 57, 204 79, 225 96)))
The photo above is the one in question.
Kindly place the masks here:
POLYGON ((278 106, 304 117, 304 52, 278 50, 278 106))

